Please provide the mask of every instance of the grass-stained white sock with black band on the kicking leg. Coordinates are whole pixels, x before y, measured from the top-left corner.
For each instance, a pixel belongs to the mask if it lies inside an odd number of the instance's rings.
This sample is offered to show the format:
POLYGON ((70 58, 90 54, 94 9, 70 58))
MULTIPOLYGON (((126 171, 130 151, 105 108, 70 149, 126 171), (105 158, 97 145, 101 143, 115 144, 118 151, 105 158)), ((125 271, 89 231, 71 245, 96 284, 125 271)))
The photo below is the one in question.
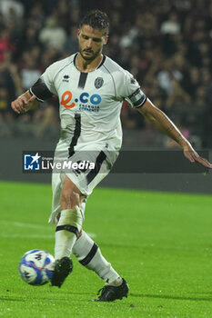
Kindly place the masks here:
POLYGON ((56 259, 70 256, 81 229, 82 221, 81 213, 77 207, 76 209, 61 211, 59 222, 56 225, 56 259))

